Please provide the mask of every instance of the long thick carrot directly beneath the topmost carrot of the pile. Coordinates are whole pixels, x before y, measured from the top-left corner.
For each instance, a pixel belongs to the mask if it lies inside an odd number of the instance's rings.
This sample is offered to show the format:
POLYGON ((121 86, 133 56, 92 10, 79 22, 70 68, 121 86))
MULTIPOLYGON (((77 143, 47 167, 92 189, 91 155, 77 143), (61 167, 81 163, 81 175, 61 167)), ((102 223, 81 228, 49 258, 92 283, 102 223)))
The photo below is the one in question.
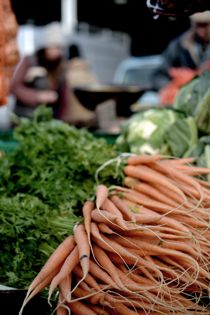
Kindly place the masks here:
POLYGON ((124 173, 125 175, 145 180, 150 183, 156 183, 171 189, 173 192, 177 193, 183 198, 182 203, 186 200, 184 193, 177 186, 170 183, 164 175, 157 172, 155 169, 145 165, 127 165, 124 168, 124 173))

